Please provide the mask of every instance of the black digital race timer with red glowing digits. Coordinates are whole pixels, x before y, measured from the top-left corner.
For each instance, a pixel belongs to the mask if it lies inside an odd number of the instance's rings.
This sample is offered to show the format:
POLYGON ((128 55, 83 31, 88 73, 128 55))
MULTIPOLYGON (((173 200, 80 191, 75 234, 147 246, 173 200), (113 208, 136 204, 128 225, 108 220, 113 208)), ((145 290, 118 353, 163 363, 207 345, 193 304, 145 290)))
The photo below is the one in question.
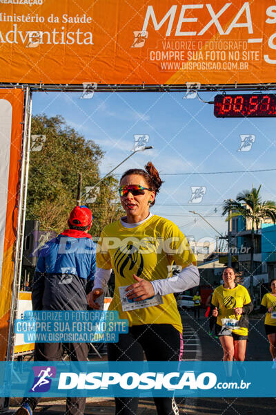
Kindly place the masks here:
POLYGON ((276 94, 216 95, 214 115, 226 117, 276 117, 276 94))

